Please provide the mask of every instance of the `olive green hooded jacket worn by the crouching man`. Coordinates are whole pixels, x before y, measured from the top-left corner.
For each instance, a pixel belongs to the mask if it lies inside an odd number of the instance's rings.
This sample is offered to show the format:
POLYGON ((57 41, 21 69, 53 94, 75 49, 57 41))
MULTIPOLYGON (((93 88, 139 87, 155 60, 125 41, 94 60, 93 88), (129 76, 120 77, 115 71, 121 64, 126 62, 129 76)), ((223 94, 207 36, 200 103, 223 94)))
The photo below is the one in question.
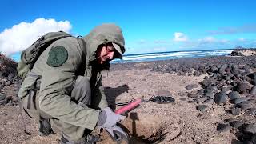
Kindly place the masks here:
POLYGON ((99 110, 107 106, 106 95, 102 86, 101 66, 95 65, 96 51, 99 45, 115 42, 124 49, 122 30, 114 24, 97 26, 90 34, 83 37, 86 51, 79 46, 76 38, 68 37, 55 41, 43 51, 35 62, 33 69, 22 82, 18 92, 20 98, 25 98, 28 89, 35 78, 31 74, 41 76, 39 108, 52 118, 74 126, 81 126, 93 130, 98 121, 99 110), (68 58, 61 66, 47 64, 49 52, 52 48, 63 46, 68 58), (92 90, 92 106, 82 107, 71 100, 70 94, 78 75, 84 75, 90 80, 92 90))

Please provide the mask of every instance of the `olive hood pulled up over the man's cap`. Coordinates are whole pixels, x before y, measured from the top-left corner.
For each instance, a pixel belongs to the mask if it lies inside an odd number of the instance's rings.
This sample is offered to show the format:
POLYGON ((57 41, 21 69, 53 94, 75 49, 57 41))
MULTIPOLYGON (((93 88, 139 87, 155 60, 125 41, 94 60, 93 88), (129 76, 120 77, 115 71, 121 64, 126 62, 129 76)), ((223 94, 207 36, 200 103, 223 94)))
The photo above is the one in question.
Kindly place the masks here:
POLYGON ((99 45, 104 43, 114 42, 120 46, 122 54, 125 52, 125 41, 122 35, 122 30, 119 26, 113 23, 104 23, 96 26, 90 31, 90 34, 83 37, 86 41, 87 57, 86 61, 94 61, 96 58, 96 51, 99 45))

